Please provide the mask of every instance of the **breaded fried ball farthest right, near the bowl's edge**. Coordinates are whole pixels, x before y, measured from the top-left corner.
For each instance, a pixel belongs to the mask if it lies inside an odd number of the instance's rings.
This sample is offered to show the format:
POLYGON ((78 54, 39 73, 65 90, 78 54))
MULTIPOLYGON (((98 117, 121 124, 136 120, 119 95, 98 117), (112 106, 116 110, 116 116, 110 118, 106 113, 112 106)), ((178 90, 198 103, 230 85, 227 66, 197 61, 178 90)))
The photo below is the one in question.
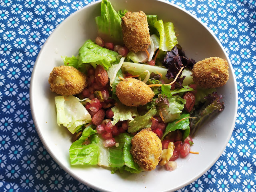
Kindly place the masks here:
POLYGON ((228 62, 219 57, 210 57, 197 62, 192 69, 193 80, 203 88, 216 88, 228 81, 228 62))

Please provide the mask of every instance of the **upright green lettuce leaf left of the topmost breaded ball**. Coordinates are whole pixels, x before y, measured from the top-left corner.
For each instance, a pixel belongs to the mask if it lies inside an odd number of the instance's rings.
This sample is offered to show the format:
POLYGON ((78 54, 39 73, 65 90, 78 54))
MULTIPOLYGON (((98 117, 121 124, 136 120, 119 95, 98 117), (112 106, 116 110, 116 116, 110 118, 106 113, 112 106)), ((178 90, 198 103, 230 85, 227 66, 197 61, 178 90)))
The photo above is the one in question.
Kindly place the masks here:
POLYGON ((106 42, 123 44, 121 18, 108 0, 102 0, 100 16, 95 18, 98 35, 106 42))

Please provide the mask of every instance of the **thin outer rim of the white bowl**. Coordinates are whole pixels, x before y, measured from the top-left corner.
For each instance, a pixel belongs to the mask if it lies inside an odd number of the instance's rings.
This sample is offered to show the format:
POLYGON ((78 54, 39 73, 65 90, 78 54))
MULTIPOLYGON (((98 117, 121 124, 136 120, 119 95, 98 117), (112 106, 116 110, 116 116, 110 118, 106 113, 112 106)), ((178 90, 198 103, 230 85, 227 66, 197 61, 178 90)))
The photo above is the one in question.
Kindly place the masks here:
MULTIPOLYGON (((111 0, 110 0, 111 1, 111 0)), ((188 14, 189 16, 191 16, 192 18, 194 18, 195 20, 197 20, 204 28, 206 28, 206 30, 213 36, 213 38, 216 40, 216 42, 218 42, 219 46, 221 47, 222 51, 224 52, 226 58, 228 59, 228 63, 229 63, 229 67, 231 69, 231 71, 234 73, 234 69, 233 69, 233 66, 230 62, 230 59, 228 57, 228 54, 227 52, 225 51, 224 47, 222 46, 222 44, 220 43, 220 41, 218 40, 218 38, 216 37, 216 35, 201 21, 199 20, 196 16, 194 16, 192 13, 190 13, 189 11, 185 10, 184 8, 181 8, 180 6, 172 3, 172 2, 169 2, 167 0, 155 0, 155 1, 159 1, 159 2, 163 2, 163 3, 166 3, 166 4, 169 4, 170 6, 174 6, 175 8, 178 8, 179 10, 181 10, 182 12, 185 12, 186 14, 188 14)), ((33 109, 33 106, 34 106, 34 102, 33 102, 33 94, 32 94, 32 90, 33 90, 33 87, 34 87, 34 84, 33 84, 33 80, 35 78, 35 68, 37 66, 37 63, 38 63, 38 60, 42 54, 42 50, 44 49, 44 47, 46 46, 46 44, 48 44, 48 41, 52 38, 52 34, 54 34, 60 27, 60 25, 64 24, 67 22, 67 20, 69 20, 71 17, 74 16, 74 14, 77 14, 78 12, 82 12, 84 11, 84 9, 87 9, 88 7, 94 5, 94 4, 99 4, 101 2, 101 0, 97 0, 95 2, 91 2, 90 4, 82 7, 81 9, 73 12, 72 14, 70 14, 70 16, 68 16, 67 18, 65 18, 53 31, 52 33, 48 36, 48 38, 46 39, 46 41, 44 42, 43 46, 40 48, 40 52, 36 58, 36 62, 34 64, 34 68, 33 68, 33 71, 32 71, 32 75, 31 75, 31 80, 30 80, 30 91, 29 91, 29 94, 30 94, 30 109, 31 109, 31 114, 32 114, 32 119, 34 121, 34 124, 35 124, 35 128, 36 128, 36 132, 38 133, 38 136, 42 142, 42 144, 44 145, 44 147, 46 148, 47 152, 50 154, 50 156, 54 159, 54 161, 65 171, 67 172, 68 174, 70 174, 73 178, 75 178, 76 180, 78 180, 79 182, 81 182, 82 184, 85 184, 86 186, 89 186, 90 188, 93 188, 95 190, 99 190, 99 191, 105 191, 105 192, 111 192, 110 190, 106 190, 104 188, 100 188, 98 186, 95 186, 93 184, 90 184, 84 180, 82 180, 82 178, 76 176, 75 173, 73 173, 68 167, 66 167, 59 159, 57 156, 55 156, 52 152, 52 150, 50 149, 50 147, 48 146, 48 144, 46 143, 46 141, 44 140, 44 137, 42 136, 42 132, 40 131, 40 128, 39 128, 39 125, 36 121, 36 115, 34 113, 34 109, 33 109)), ((233 81, 234 81, 234 84, 236 85, 236 78, 235 78, 235 75, 232 76, 233 77, 233 81)), ((238 90, 237 90, 237 86, 235 86, 235 92, 234 92, 234 100, 235 100, 235 108, 236 110, 234 111, 234 114, 236 115, 237 114, 237 110, 238 110, 238 90)), ((234 120, 232 122, 232 128, 230 128, 230 131, 229 131, 229 134, 228 134, 228 139, 226 140, 226 145, 228 144, 228 140, 230 140, 231 136, 232 136, 232 132, 234 130, 234 126, 235 126, 235 123, 236 123, 236 116, 234 116, 234 120)), ((216 156, 216 158, 214 158, 214 161, 212 161, 213 163, 209 164, 200 174, 194 176, 193 178, 191 178, 190 180, 187 180, 184 184, 180 185, 180 186, 177 186, 171 190, 165 190, 163 192, 170 192, 170 191, 176 191, 180 188, 183 188, 185 186, 187 186, 188 184, 194 182, 195 180, 197 180, 198 178, 200 178, 207 170, 209 170, 213 165, 214 163, 218 160, 218 158, 220 158, 222 152, 225 150, 226 148, 226 145, 223 146, 221 149, 220 149, 220 153, 218 156, 216 156)))

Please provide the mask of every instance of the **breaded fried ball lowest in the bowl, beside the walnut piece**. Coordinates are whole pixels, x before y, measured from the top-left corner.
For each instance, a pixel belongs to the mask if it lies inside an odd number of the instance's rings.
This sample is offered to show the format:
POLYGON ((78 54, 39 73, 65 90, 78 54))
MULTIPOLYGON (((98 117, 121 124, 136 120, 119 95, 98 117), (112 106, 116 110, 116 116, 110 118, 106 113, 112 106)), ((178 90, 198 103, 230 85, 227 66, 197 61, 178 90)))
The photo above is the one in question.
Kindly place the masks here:
POLYGON ((151 128, 142 129, 132 138, 132 154, 134 162, 145 171, 156 168, 162 155, 162 142, 151 128))

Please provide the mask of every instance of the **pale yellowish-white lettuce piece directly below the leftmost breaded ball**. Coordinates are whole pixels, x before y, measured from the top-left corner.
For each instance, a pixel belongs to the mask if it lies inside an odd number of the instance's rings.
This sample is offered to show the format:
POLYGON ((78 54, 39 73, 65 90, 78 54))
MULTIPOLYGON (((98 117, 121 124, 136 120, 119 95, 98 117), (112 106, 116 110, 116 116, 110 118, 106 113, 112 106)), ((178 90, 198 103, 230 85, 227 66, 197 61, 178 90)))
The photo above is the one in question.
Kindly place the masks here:
POLYGON ((86 108, 75 96, 55 97, 57 124, 63 124, 74 134, 81 125, 90 123, 92 118, 86 108))

